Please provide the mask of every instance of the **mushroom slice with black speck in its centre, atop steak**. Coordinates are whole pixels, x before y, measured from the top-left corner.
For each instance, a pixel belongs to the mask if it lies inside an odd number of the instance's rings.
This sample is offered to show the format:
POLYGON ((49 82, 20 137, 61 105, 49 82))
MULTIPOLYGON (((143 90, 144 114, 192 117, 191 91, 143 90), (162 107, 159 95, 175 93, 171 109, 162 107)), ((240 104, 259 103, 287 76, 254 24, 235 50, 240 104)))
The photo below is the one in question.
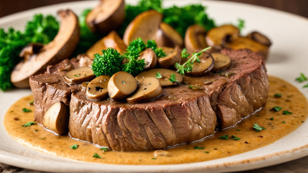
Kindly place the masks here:
POLYGON ((102 100, 108 96, 109 75, 101 75, 89 82, 86 95, 88 99, 102 100))

